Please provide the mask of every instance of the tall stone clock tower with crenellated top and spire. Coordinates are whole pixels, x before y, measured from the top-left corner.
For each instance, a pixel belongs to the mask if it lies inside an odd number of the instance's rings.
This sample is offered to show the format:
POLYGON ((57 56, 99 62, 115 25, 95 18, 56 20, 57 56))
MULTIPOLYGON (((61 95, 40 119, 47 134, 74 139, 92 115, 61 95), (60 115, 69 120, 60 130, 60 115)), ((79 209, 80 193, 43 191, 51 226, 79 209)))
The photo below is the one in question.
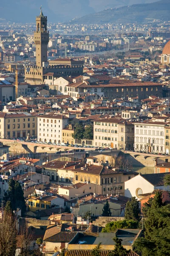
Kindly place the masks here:
POLYGON ((47 16, 43 15, 42 9, 40 16, 36 17, 36 28, 37 30, 34 31, 34 43, 36 44, 36 65, 38 67, 42 67, 42 62, 47 62, 47 45, 49 41, 47 16))

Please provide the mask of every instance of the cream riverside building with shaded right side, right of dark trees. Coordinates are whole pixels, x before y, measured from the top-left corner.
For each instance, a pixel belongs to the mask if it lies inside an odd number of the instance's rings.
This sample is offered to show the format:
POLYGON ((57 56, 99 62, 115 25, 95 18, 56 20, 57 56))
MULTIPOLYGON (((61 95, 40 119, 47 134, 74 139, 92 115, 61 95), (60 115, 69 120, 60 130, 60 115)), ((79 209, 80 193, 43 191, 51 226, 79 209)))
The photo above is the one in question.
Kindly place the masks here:
POLYGON ((133 149, 134 126, 121 117, 105 117, 94 121, 94 145, 133 149))

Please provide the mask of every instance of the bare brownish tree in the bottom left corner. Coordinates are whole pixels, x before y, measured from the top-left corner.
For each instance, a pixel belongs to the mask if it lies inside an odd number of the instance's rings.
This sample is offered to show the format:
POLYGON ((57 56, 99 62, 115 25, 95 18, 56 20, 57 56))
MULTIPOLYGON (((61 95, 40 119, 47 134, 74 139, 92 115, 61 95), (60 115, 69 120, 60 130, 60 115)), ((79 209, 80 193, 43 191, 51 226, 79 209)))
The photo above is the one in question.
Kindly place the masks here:
POLYGON ((0 223, 0 256, 15 256, 17 247, 16 219, 4 211, 0 223))

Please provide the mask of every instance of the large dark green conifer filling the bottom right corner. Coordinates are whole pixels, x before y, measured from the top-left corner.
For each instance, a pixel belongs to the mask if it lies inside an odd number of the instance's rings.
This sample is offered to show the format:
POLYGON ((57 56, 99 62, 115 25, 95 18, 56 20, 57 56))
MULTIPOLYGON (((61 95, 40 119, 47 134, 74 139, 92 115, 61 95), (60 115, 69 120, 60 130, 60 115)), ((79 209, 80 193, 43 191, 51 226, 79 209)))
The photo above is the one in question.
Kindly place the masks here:
POLYGON ((144 237, 136 240, 137 252, 142 256, 170 255, 170 205, 163 206, 161 193, 157 193, 144 219, 144 237))

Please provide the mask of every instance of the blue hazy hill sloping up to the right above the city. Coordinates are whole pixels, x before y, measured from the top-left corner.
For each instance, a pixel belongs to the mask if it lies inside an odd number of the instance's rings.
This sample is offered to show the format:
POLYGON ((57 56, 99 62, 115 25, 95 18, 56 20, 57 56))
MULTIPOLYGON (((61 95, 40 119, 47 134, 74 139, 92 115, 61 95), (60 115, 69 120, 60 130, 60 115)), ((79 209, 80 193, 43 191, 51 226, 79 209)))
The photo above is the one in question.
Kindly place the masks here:
POLYGON ((149 19, 170 20, 170 0, 105 9, 70 21, 71 24, 143 23, 149 19))

